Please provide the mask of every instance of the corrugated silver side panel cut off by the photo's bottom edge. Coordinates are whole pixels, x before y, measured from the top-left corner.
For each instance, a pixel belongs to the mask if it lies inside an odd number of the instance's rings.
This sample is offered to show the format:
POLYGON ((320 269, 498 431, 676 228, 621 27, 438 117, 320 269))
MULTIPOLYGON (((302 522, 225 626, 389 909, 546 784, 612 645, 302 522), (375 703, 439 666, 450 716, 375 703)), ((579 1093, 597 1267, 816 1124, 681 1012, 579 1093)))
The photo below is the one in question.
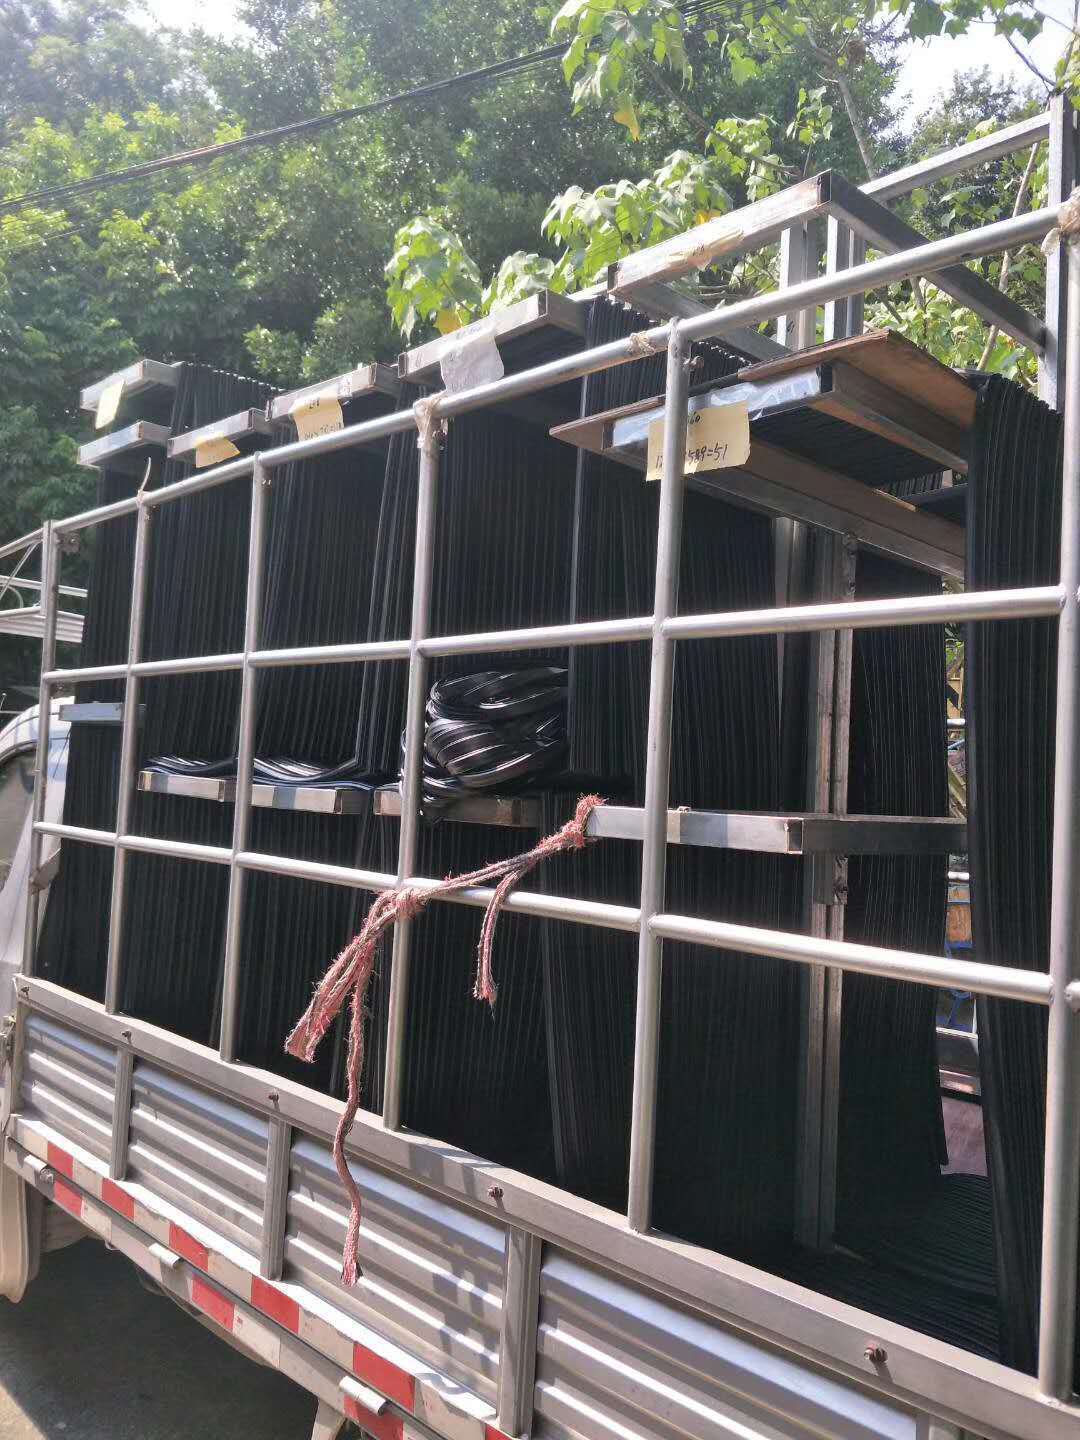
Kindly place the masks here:
POLYGON ((552 1248, 540 1279, 533 1433, 916 1440, 916 1417, 552 1248))

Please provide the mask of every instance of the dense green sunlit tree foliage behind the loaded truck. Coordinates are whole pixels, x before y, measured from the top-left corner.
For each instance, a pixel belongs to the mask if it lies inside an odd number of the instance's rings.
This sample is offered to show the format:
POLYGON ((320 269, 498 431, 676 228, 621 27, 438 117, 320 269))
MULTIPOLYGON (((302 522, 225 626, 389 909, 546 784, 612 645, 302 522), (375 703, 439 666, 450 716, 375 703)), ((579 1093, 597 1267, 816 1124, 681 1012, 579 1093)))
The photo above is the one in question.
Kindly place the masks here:
MULTIPOLYGON (((904 46, 1015 0, 242 0, 239 36, 147 29, 134 0, 0 0, 0 196, 363 104, 554 36, 564 62, 387 108, 289 144, 0 215, 0 514, 6 534, 88 501, 81 384, 138 354, 276 383, 387 357, 539 288, 835 166, 852 179, 1041 104, 973 76, 910 135, 904 46), (693 9, 693 7, 691 7, 693 9), (389 305, 386 297, 389 294, 389 305)), ((1076 56, 1060 79, 1079 84, 1076 56)), ((1012 156, 904 206, 927 233, 1037 204, 1012 156)), ((770 282, 769 252, 706 271, 706 300, 770 282)), ((1001 262, 984 272, 994 281, 1001 262)), ((1035 253, 1008 287, 1041 284, 1035 253)), ((874 314, 976 363, 981 321, 932 287, 874 314)), ((1022 369, 1009 341, 986 363, 1022 369)))

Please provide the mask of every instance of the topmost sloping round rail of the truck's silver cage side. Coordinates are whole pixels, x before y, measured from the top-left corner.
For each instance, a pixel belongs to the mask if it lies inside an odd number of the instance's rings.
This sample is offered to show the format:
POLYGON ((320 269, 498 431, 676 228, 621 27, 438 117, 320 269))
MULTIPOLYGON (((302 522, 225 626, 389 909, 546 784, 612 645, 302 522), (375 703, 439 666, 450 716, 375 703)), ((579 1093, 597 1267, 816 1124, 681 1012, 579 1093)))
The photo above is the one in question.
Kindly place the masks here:
MULTIPOLYGON (((996 220, 994 225, 984 225, 979 229, 968 230, 963 235, 949 235, 927 245, 901 251, 897 255, 886 255, 863 265, 852 265, 848 269, 837 271, 832 275, 821 275, 816 279, 791 285, 783 291, 769 291, 752 300, 739 301, 733 305, 723 305, 717 310, 704 311, 688 320, 680 321, 687 340, 708 340, 720 337, 740 325, 757 325, 765 320, 775 320, 791 310, 805 310, 811 305, 828 304, 847 295, 861 295, 878 285, 894 281, 910 279, 913 275, 927 275, 956 261, 973 259, 979 255, 992 255, 998 251, 1012 249, 1030 240, 1041 240, 1057 225, 1057 206, 1047 206, 1032 210, 1028 215, 1012 216, 1007 220, 996 220)), ((667 348, 668 325, 657 325, 642 331, 648 343, 657 348, 667 348)), ((520 399, 546 390, 567 380, 580 380, 586 374, 598 370, 608 370, 616 364, 628 364, 641 359, 641 340, 628 337, 615 340, 592 350, 580 350, 564 356, 560 360, 549 360, 546 364, 521 370, 517 374, 504 376, 490 384, 474 386, 468 390, 458 390, 454 395, 439 392, 435 396, 433 413, 448 419, 455 415, 468 415, 471 410, 482 409, 505 400, 520 399)), ((292 441, 288 445, 278 445, 274 449, 259 452, 259 462, 266 469, 276 469, 294 461, 314 459, 318 455, 330 455, 341 449, 350 449, 366 441, 383 439, 387 435, 400 435, 416 425, 412 410, 395 410, 390 415, 377 416, 372 420, 361 420, 348 425, 341 431, 328 435, 315 435, 305 441, 292 441)), ((240 480, 252 474, 255 456, 246 455, 213 469, 180 480, 174 485, 163 490, 151 490, 145 494, 145 504, 164 505, 179 500, 186 500, 203 490, 213 490, 230 480, 240 480)), ((69 516, 65 520, 53 521, 58 534, 72 534, 85 530, 88 526, 99 524, 105 520, 117 520, 122 516, 134 514, 135 498, 118 500, 109 505, 99 505, 95 510, 84 510, 81 514, 69 516)))

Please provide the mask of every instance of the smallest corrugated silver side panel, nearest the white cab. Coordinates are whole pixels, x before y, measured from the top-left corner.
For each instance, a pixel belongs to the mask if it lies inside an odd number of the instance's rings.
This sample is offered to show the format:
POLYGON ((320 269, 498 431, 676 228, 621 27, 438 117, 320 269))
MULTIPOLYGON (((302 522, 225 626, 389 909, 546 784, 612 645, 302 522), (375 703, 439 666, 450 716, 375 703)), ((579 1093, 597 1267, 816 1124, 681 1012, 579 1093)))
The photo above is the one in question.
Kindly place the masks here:
POLYGON ((109 1158, 115 1051, 42 1015, 26 1021, 22 1103, 27 1117, 109 1158))

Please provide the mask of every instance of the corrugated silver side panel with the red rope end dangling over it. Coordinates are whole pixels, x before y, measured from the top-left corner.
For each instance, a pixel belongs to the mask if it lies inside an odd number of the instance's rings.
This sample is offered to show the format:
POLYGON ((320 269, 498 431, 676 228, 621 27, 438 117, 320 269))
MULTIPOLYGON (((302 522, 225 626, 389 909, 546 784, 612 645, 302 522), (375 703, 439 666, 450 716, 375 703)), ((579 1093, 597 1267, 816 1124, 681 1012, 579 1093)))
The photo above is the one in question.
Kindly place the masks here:
POLYGON ((363 1277, 340 1283, 348 1208, 325 1145, 292 1146, 285 1277, 494 1400, 505 1228, 353 1162, 363 1277))

